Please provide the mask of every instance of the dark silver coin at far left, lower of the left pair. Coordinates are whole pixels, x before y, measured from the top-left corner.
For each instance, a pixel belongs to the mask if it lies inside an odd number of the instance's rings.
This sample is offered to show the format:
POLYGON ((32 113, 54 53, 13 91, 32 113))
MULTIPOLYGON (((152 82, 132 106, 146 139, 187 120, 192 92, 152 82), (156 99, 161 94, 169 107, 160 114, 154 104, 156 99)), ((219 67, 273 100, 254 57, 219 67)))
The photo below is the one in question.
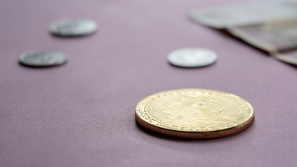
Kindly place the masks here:
POLYGON ((19 62, 35 67, 61 65, 67 61, 67 56, 61 51, 31 51, 21 54, 19 62))

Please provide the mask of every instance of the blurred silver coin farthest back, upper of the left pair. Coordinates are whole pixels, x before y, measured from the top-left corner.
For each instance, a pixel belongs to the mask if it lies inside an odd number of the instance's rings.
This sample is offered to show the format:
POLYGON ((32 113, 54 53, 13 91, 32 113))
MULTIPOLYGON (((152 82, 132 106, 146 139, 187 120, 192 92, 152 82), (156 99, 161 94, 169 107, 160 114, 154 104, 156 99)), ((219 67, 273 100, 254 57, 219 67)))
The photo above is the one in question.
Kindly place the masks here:
POLYGON ((97 31, 97 23, 92 19, 59 19, 51 23, 49 32, 58 36, 89 35, 97 31))

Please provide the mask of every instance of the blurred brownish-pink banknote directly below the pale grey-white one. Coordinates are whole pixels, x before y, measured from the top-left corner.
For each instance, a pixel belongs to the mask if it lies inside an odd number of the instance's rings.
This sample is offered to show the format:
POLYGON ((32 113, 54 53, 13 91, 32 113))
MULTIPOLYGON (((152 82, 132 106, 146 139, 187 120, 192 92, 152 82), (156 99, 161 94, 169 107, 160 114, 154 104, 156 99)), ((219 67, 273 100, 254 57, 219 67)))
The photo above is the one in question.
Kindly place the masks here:
POLYGON ((290 20, 236 26, 229 33, 269 54, 297 48, 297 18, 290 20))

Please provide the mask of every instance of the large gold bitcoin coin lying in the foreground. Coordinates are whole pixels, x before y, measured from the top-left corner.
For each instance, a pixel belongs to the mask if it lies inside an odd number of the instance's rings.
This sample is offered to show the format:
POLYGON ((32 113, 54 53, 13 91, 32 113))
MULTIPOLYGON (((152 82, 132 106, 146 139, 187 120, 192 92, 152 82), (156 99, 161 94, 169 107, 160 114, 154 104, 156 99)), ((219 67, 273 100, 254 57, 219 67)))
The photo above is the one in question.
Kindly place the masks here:
POLYGON ((136 122, 167 136, 219 138, 252 125, 254 110, 241 97, 216 90, 179 89, 138 102, 136 122))

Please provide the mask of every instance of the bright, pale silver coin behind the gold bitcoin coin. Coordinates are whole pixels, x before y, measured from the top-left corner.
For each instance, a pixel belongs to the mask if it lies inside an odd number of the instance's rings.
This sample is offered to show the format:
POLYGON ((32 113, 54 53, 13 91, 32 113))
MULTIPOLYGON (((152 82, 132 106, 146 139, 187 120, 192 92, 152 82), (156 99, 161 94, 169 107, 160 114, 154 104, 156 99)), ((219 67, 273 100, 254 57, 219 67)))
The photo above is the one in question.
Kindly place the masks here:
POLYGON ((179 67, 202 67, 216 62, 214 51, 203 48, 185 48, 172 51, 168 62, 179 67))

